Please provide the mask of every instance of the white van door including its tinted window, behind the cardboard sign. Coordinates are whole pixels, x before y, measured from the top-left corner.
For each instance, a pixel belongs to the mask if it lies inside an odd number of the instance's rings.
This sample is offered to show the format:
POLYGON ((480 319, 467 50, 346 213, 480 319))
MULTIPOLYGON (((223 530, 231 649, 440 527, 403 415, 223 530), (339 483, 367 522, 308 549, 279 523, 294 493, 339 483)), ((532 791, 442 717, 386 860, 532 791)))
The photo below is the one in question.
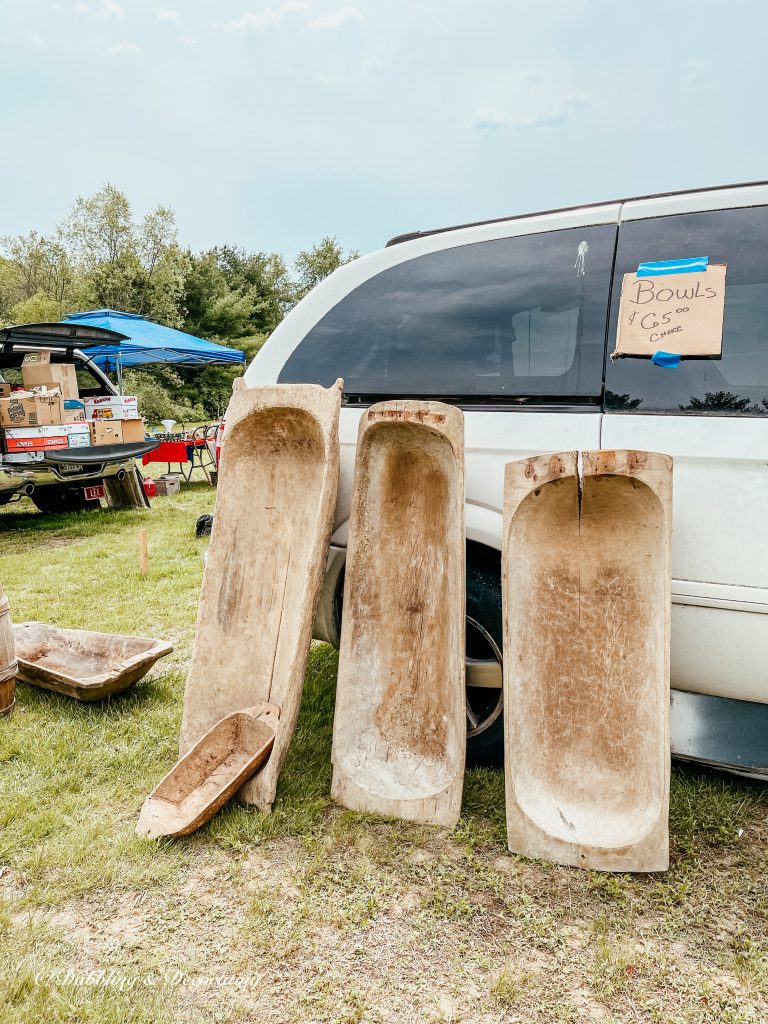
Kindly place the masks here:
POLYGON ((706 256, 726 265, 722 355, 609 361, 602 446, 675 460, 672 685, 768 702, 768 208, 649 212, 625 208, 609 351, 625 273, 706 256))

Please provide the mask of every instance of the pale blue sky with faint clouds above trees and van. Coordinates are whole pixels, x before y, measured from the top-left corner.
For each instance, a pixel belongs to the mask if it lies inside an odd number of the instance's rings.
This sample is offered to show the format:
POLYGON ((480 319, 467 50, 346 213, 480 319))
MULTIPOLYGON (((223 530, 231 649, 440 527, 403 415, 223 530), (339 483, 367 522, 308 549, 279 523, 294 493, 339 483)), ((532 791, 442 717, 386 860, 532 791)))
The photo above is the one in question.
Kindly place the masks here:
POLYGON ((292 257, 768 178, 765 0, 0 0, 0 236, 110 181, 292 257))

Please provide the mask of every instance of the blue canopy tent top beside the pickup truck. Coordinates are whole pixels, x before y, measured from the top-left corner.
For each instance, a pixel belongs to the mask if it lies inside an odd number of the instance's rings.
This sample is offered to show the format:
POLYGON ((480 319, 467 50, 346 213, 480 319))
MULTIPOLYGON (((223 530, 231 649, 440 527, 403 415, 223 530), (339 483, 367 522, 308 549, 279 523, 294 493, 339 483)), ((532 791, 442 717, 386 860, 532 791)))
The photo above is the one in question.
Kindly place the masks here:
POLYGON ((227 366, 245 362, 246 356, 237 348, 216 345, 212 341, 196 338, 194 334, 176 331, 172 327, 155 324, 138 313, 123 313, 118 309, 91 309, 84 313, 68 313, 62 324, 82 324, 102 327, 126 336, 117 345, 89 347, 88 355, 99 369, 117 373, 127 367, 140 367, 150 362, 175 364, 181 367, 227 366))

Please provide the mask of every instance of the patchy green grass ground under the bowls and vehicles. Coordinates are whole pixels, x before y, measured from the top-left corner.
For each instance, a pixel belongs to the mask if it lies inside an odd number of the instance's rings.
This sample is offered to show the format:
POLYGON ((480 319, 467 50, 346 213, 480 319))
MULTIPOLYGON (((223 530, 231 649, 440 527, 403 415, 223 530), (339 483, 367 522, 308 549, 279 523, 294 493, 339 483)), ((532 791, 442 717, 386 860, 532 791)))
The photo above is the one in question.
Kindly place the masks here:
POLYGON ((200 483, 151 512, 0 510, 16 621, 175 644, 123 696, 19 685, 0 721, 3 1022, 764 1024, 768 787, 676 767, 657 876, 511 856, 501 772, 467 773, 452 831, 344 811, 325 645, 273 813, 233 802, 186 840, 138 839, 176 755, 213 501, 200 483))

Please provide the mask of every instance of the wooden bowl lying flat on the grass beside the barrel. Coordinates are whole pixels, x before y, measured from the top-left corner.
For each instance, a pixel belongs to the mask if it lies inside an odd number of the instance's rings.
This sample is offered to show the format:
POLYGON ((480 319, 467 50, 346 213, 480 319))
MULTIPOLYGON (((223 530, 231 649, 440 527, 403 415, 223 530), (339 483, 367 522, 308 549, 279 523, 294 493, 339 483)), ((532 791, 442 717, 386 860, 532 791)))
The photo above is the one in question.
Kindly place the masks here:
POLYGON ((153 637, 63 630, 45 623, 13 626, 18 679, 76 700, 102 700, 138 682, 173 644, 153 637))

